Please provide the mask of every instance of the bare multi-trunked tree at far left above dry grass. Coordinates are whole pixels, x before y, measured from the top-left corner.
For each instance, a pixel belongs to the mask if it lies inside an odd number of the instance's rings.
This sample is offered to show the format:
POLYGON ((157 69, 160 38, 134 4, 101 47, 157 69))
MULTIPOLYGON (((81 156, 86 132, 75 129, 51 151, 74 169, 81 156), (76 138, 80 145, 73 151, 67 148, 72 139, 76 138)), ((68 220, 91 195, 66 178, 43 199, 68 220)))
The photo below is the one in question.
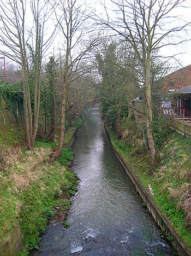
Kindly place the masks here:
POLYGON ((0 11, 0 42, 3 44, 0 53, 21 66, 26 141, 28 149, 33 150, 40 106, 41 59, 43 50, 47 50, 55 33, 53 31, 51 37, 44 42, 44 28, 47 19, 50 17, 51 9, 48 0, 44 2, 40 0, 31 0, 30 2, 27 2, 27 0, 8 0, 7 2, 1 1, 0 11), (28 11, 28 15, 32 16, 32 21, 29 22, 26 19, 28 11), (32 44, 31 48, 34 52, 34 112, 29 88, 27 45, 30 44, 32 44))

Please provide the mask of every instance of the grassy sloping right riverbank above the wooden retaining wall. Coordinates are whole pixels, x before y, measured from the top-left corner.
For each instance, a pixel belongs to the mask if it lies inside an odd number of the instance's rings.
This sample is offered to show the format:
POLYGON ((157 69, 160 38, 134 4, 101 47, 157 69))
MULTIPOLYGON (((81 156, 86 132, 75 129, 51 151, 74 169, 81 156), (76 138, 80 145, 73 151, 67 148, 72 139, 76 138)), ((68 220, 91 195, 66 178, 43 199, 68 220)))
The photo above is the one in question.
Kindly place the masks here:
MULTIPOLYGON (((158 164, 153 166, 150 156, 144 150, 140 150, 142 149, 141 141, 137 147, 136 143, 133 145, 128 139, 119 138, 117 133, 109 127, 107 130, 111 136, 112 146, 127 162, 127 165, 132 167, 133 173, 149 193, 148 184, 151 185, 154 193, 152 199, 190 249, 191 230, 188 226, 190 216, 184 205, 190 195, 189 146, 191 141, 176 133, 171 133, 168 140, 158 149, 160 159, 158 159, 158 164)), ((129 131, 130 133, 132 132, 129 131)), ((172 240, 171 236, 167 238, 169 241, 172 240)))

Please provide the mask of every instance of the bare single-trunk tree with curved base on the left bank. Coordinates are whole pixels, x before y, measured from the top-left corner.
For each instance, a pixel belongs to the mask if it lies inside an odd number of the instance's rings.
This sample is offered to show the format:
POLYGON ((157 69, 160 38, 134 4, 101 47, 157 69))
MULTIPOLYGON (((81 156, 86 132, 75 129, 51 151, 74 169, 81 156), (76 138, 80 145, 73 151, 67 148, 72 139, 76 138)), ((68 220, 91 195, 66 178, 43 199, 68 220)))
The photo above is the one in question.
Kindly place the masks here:
POLYGON ((76 72, 80 74, 80 62, 87 59, 89 51, 95 42, 95 40, 93 40, 93 42, 90 42, 88 45, 83 47, 83 38, 87 33, 87 27, 85 28, 85 24, 88 19, 84 5, 79 4, 77 0, 65 0, 59 1, 54 8, 59 30, 62 38, 64 39, 63 48, 65 50, 65 55, 62 71, 61 130, 57 148, 51 156, 53 160, 57 159, 61 154, 63 146, 68 86, 73 81, 75 77, 74 74, 76 74, 76 72))

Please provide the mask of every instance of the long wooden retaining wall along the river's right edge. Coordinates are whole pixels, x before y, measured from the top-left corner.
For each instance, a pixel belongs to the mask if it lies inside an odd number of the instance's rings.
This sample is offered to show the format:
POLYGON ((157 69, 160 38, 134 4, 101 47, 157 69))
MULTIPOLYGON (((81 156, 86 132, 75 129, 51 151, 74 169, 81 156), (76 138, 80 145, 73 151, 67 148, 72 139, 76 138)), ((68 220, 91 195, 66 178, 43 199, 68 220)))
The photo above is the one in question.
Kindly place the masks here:
MULTIPOLYGON (((108 135, 108 138, 110 139, 109 131, 106 129, 106 135, 108 135)), ((112 143, 111 143, 112 146, 112 143)), ((141 182, 139 181, 139 178, 134 174, 132 171, 132 167, 127 164, 127 162, 124 160, 123 156, 117 152, 117 150, 112 146, 114 153, 120 161, 121 165, 123 166, 124 170, 126 171, 127 175, 129 176, 130 180, 134 184, 136 191, 138 191, 139 195, 141 196, 142 200, 146 203, 148 211, 152 214, 154 220, 158 224, 158 226, 164 231, 164 234, 166 237, 172 237, 172 245, 176 249, 178 253, 182 256, 190 256, 191 252, 188 246, 185 245, 182 238, 177 234, 174 228, 169 223, 169 220, 163 215, 162 211, 158 208, 154 200, 152 199, 150 193, 143 187, 141 182)))

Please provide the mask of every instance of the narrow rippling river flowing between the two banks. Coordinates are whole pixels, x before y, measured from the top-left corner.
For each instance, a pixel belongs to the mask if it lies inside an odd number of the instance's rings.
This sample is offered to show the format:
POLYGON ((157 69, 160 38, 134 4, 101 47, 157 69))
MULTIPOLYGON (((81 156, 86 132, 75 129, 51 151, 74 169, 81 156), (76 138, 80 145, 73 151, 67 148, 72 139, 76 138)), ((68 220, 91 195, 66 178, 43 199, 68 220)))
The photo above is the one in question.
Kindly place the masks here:
POLYGON ((81 179, 64 231, 50 224, 35 255, 174 255, 117 161, 98 109, 74 144, 73 171, 81 179))

